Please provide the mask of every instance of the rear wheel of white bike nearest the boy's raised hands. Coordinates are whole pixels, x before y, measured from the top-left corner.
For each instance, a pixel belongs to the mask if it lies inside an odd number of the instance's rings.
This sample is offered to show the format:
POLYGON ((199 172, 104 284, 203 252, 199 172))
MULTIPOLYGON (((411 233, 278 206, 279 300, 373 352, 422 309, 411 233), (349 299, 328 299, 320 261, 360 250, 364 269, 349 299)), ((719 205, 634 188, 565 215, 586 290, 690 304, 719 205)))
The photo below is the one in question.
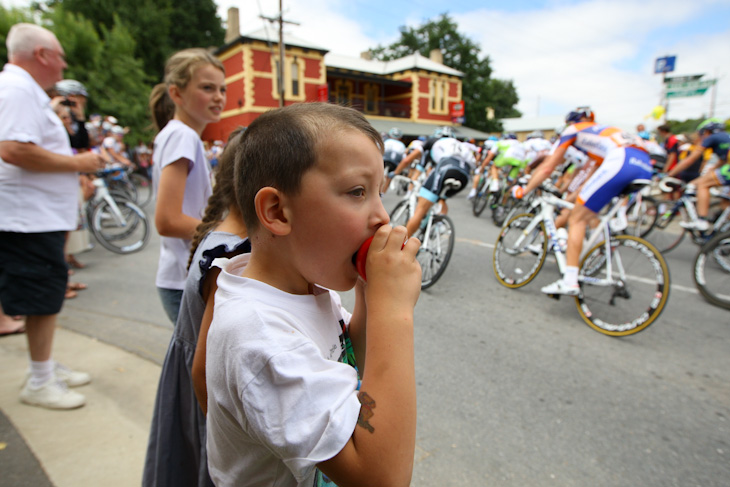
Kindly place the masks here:
POLYGON ((424 237, 416 260, 421 264, 421 289, 428 289, 441 278, 454 252, 454 222, 446 215, 434 215, 431 231, 424 237))

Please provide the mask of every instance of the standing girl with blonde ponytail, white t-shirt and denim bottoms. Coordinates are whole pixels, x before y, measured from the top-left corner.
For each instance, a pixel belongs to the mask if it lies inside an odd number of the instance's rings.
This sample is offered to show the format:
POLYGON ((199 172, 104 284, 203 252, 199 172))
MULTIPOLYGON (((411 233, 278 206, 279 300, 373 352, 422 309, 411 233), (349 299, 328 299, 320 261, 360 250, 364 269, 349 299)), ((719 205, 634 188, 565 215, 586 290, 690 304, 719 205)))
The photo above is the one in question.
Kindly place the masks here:
POLYGON ((165 81, 150 94, 160 133, 152 154, 160 234, 155 284, 175 323, 185 287, 190 241, 211 194, 210 169, 200 135, 220 120, 226 103, 223 64, 204 49, 185 49, 167 61, 165 81))

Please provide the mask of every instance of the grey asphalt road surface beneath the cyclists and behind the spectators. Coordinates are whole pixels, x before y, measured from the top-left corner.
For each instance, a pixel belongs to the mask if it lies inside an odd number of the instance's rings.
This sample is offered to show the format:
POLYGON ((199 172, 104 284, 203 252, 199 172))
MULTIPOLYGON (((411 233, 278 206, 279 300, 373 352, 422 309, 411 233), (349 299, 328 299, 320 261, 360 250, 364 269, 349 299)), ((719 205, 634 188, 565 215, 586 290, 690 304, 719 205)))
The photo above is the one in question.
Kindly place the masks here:
MULTIPOLYGON (((667 254, 672 291, 659 320, 625 338, 601 335, 572 299, 492 272, 497 228, 450 201, 457 243, 416 308, 418 434, 414 486, 727 486, 730 312, 695 291, 696 248, 667 254)), ((396 198, 386 195, 386 208, 396 198)), ((61 323, 161 363, 171 324, 154 286, 158 240, 119 256, 79 256, 89 289, 61 323)), ((352 294, 343 302, 351 307, 352 294)))

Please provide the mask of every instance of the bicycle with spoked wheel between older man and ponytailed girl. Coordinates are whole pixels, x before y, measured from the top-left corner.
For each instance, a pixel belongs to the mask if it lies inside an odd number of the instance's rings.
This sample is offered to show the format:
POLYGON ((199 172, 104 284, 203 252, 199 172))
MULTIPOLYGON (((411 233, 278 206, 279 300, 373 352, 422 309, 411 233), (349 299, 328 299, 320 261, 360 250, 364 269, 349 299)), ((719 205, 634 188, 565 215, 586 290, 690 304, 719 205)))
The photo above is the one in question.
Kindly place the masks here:
POLYGON ((99 171, 93 183, 94 196, 86 204, 87 226, 96 240, 118 254, 142 250, 150 237, 147 214, 125 194, 112 191, 106 176, 118 172, 112 167, 99 171))

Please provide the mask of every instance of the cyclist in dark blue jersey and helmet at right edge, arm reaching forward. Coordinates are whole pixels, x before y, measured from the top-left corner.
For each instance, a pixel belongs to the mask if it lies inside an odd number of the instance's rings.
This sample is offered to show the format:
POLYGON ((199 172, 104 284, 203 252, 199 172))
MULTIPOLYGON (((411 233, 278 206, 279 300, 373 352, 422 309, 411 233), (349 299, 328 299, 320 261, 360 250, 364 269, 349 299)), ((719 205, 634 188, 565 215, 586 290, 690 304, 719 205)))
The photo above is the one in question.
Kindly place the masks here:
POLYGON ((689 222, 680 222, 680 225, 688 230, 699 230, 705 232, 710 229, 710 222, 707 215, 710 212, 710 188, 713 186, 730 186, 730 164, 728 163, 728 150, 730 150, 730 134, 725 131, 725 124, 719 119, 708 118, 697 127, 700 143, 692 153, 679 161, 672 168, 667 176, 675 176, 688 167, 693 166, 697 161, 702 160, 702 154, 706 149, 711 149, 713 154, 720 161, 720 167, 709 171, 690 181, 687 190, 697 190, 697 219, 689 222), (691 186, 690 186, 691 185, 691 186))

